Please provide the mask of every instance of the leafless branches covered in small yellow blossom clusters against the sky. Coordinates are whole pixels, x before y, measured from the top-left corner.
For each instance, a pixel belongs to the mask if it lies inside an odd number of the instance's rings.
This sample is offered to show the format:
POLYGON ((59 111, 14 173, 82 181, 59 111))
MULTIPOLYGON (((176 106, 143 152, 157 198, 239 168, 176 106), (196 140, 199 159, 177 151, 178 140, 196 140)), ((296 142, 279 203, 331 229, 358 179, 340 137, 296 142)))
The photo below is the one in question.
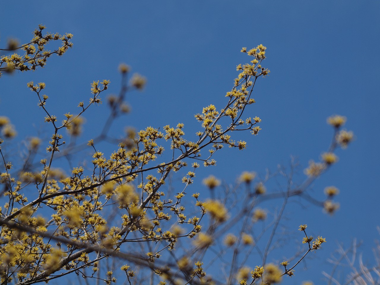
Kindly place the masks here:
MULTIPOLYGON (((9 41, 1 51, 16 53, 2 55, 0 70, 34 71, 43 68, 50 56, 62 56, 72 47, 70 33, 53 35, 43 33, 44 29, 40 25, 27 44, 9 41), (62 46, 47 51, 52 41, 61 41, 62 46)), ((196 174, 215 165, 217 151, 246 148, 247 143, 238 138, 241 131, 260 135, 261 119, 246 113, 256 103, 255 85, 270 72, 264 65, 266 47, 243 47, 241 52, 248 63, 237 65, 237 78, 220 98, 223 108, 208 105, 195 114, 195 134, 185 135, 184 124, 178 122, 139 131, 128 128, 122 138, 110 139, 112 122, 130 110, 126 94, 146 84, 146 78, 131 74, 126 64, 119 66, 119 94, 107 93, 115 88, 109 80, 93 81, 89 100, 73 102, 78 106, 76 114, 66 110, 53 114, 49 106, 54 104, 54 94, 45 94, 45 82, 25 82, 50 134, 48 139, 23 137, 25 147, 18 157, 11 147, 16 128, 8 117, 0 117, 1 284, 53 282, 70 274, 83 277, 83 282, 104 280, 106 284, 124 280, 160 285, 272 284, 294 275, 294 268, 309 252, 320 250, 326 242, 323 233, 312 237, 302 224, 301 249, 294 247, 293 255, 277 264, 269 256, 284 244, 279 225, 290 201, 311 202, 327 214, 339 208, 333 200, 339 193, 336 187, 327 186, 322 200, 309 189, 337 162, 335 150, 346 148, 353 139, 353 133, 342 128, 344 116, 328 118, 331 145, 320 160, 310 161, 301 182, 293 179, 298 165, 292 161, 289 169, 279 167, 261 178, 244 172, 232 187, 209 176, 203 180, 204 188, 190 190, 196 174), (84 114, 95 106, 105 108, 98 106, 105 95, 109 113, 104 126, 86 143, 76 143, 84 114), (102 150, 105 140, 114 146, 109 153, 102 150), (87 158, 82 160, 79 154, 87 158), (182 186, 173 183, 173 176, 182 177, 182 186), (274 177, 282 179, 285 188, 267 190, 274 177), (275 199, 281 199, 280 208, 268 213, 263 207, 275 199), (214 275, 218 269, 223 274, 214 275)))

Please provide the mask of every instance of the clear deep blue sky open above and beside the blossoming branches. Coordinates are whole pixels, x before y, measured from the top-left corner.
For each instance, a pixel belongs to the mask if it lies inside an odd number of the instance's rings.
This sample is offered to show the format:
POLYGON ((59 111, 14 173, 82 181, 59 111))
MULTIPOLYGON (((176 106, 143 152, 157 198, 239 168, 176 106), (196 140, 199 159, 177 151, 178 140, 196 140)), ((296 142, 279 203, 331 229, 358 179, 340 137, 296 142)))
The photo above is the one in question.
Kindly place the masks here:
MULTIPOLYGON (((14 9, 11 2, 2 7, 14 9)), ((290 155, 306 167, 331 141, 326 118, 346 116, 355 141, 338 150, 339 163, 312 187, 317 193, 336 185, 340 210, 330 217, 307 206, 294 211, 290 224, 295 230, 307 223, 328 239, 318 260, 308 262, 308 275, 303 275, 322 283, 320 271, 326 270, 323 263, 335 242, 347 244, 358 237, 370 260, 370 248, 378 237, 379 13, 378 1, 352 0, 107 4, 94 0, 59 6, 37 0, 27 8, 27 20, 0 20, 0 45, 5 46, 10 37, 27 42, 38 24, 44 24, 49 32, 72 33, 74 46, 62 58, 49 59, 44 69, 3 76, 0 115, 16 126, 15 141, 36 135, 42 114, 27 82, 46 83, 46 93, 55 102, 53 113, 75 113, 78 103, 90 96, 92 81, 110 79, 109 92, 119 91, 117 67, 125 62, 147 78, 147 86, 128 95, 132 112, 112 132, 122 132, 127 125, 162 128, 182 122, 192 135, 197 124, 194 114, 210 104, 222 108, 237 75, 236 65, 248 60, 239 52, 241 47, 263 44, 268 57, 263 66, 271 73, 255 87, 257 103, 250 109, 253 117, 263 120, 262 130, 258 136, 236 137, 248 142, 247 149, 223 149, 215 157, 217 166, 204 169, 198 178, 214 174, 232 184, 244 170, 263 175, 266 168, 287 166, 290 155)), ((84 139, 102 121, 105 110, 103 106, 86 115, 84 139)), ((293 277, 288 282, 301 280, 293 277)))

